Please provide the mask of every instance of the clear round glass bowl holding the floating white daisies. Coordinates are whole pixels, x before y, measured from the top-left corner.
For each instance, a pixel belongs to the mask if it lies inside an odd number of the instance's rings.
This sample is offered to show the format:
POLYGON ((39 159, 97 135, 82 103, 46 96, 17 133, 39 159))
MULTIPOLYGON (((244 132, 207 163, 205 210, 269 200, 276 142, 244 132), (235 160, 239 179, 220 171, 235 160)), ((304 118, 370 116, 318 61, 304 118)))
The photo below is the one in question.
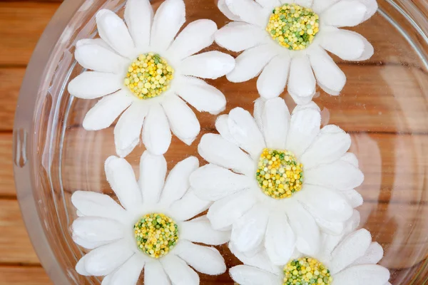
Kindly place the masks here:
MULTIPOLYGON (((124 0, 66 0, 34 51, 22 84, 14 126, 16 189, 26 227, 37 254, 55 284, 100 284, 74 270, 83 255, 71 239, 76 218, 71 194, 88 190, 112 194, 103 163, 115 154, 113 126, 83 130, 82 121, 96 100, 80 100, 67 92, 71 78, 83 71, 73 58, 76 41, 95 37, 94 14, 101 7, 123 14, 124 0)), ((155 9, 162 0, 153 0, 155 9)), ((361 227, 384 247, 383 266, 392 284, 424 284, 428 280, 428 5, 424 0, 379 0, 372 19, 352 28, 374 46, 362 63, 335 58, 347 75, 338 97, 319 90, 315 102, 322 125, 339 125, 352 135, 352 152, 360 160, 365 182, 359 191, 361 227), (425 89, 427 88, 427 89, 425 89)), ((228 20, 215 0, 185 0, 187 20, 228 20)), ((210 49, 220 49, 212 46, 210 49)), ((255 80, 210 81, 225 93, 227 110, 253 111, 258 98, 255 80)), ((282 95, 294 106, 290 95, 282 95)), ((197 113, 201 133, 215 132, 214 115, 197 113)), ((198 156, 200 136, 191 146, 173 138, 165 157, 168 167, 189 155, 198 156)), ((143 152, 138 145, 127 160, 136 169, 143 152)), ((204 164, 202 158, 200 162, 204 164)), ((228 266, 239 264, 226 246, 219 247, 228 266)), ((233 284, 225 273, 204 276, 201 284, 233 284)))

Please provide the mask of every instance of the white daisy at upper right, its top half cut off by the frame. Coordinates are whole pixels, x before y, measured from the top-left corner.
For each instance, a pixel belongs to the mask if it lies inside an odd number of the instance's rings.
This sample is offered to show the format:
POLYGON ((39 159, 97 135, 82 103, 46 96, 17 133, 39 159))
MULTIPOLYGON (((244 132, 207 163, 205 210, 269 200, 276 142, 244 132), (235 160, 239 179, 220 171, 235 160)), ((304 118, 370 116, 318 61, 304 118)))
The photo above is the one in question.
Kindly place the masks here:
POLYGON ((340 29, 357 26, 377 11, 376 0, 219 0, 230 24, 215 33, 215 42, 243 53, 228 74, 232 82, 258 78, 264 98, 288 92, 296 103, 309 103, 316 83, 339 95, 346 76, 326 51, 345 61, 364 61, 372 45, 359 33, 340 29))

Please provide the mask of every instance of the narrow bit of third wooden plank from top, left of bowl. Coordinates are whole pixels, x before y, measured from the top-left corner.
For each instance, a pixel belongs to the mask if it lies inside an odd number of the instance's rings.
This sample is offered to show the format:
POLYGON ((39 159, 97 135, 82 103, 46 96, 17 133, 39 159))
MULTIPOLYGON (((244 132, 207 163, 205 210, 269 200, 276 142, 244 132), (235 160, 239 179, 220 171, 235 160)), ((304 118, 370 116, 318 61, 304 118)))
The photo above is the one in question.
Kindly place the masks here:
POLYGON ((0 133, 0 177, 0 197, 16 197, 11 133, 0 133))

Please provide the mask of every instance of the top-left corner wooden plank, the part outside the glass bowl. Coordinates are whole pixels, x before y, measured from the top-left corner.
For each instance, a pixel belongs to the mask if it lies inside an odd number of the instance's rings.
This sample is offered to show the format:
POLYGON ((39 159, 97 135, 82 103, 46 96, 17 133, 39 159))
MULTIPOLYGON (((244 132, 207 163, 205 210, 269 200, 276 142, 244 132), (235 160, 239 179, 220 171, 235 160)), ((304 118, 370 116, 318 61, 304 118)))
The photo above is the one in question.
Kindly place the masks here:
POLYGON ((0 65, 26 65, 60 3, 0 2, 0 65))

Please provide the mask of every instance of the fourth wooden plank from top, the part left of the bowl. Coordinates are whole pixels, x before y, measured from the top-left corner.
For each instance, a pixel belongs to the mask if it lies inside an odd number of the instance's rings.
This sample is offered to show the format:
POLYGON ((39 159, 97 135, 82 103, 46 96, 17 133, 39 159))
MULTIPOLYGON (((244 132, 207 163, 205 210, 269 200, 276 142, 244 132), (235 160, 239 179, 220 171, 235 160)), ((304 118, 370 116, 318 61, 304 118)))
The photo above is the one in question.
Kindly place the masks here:
POLYGON ((0 199, 0 263, 39 264, 21 219, 18 201, 0 199))

